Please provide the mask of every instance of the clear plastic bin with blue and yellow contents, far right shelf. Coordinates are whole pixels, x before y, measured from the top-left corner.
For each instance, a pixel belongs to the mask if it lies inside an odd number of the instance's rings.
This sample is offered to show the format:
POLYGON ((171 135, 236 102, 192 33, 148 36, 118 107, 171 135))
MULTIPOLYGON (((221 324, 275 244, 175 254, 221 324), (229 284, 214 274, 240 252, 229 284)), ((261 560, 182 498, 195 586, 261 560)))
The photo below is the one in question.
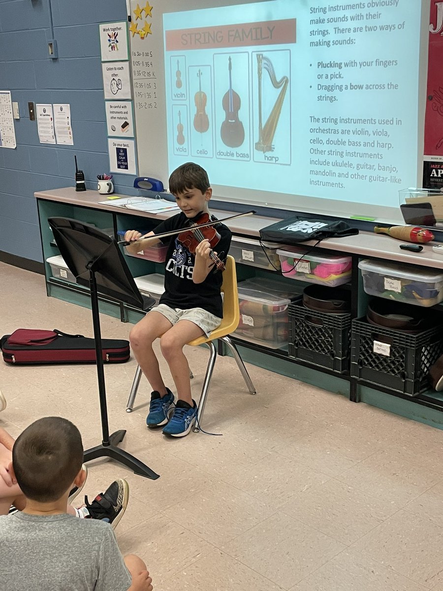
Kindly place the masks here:
POLYGON ((404 301, 417 306, 435 306, 443 300, 443 273, 426 267, 377 262, 359 262, 364 291, 371 296, 404 301))

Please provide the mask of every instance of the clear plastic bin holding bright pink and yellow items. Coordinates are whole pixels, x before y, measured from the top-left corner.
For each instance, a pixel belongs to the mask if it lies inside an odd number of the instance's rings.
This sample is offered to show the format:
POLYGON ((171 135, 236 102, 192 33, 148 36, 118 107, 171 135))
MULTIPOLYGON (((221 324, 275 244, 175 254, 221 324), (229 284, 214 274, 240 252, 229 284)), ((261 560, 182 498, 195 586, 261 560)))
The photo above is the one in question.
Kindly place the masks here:
POLYGON ((277 254, 280 257, 282 274, 291 279, 330 287, 349 281, 352 268, 350 256, 314 255, 306 254, 307 252, 308 249, 295 246, 279 248, 277 254))

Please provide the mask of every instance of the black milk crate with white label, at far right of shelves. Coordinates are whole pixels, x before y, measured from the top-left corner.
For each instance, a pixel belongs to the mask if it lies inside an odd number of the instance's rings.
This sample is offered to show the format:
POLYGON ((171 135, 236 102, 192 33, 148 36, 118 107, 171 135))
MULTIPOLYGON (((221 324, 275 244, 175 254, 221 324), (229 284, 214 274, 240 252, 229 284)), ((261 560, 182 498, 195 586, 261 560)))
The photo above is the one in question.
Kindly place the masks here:
POLYGON ((429 388, 429 368, 443 353, 443 326, 416 335, 352 321, 351 376, 408 396, 429 388), (374 341, 390 345, 389 356, 374 352, 374 341))

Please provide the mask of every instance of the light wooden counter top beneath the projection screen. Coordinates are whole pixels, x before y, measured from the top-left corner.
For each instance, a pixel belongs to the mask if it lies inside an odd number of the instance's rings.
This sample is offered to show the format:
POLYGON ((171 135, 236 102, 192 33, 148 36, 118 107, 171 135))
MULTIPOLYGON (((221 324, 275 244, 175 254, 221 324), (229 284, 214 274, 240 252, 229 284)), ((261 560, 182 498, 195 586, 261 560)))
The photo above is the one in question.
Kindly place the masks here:
MULTIPOLYGON (((107 212, 118 213, 120 215, 136 215, 138 217, 150 217, 152 219, 163 220, 171 217, 177 213, 176 211, 159 213, 138 212, 133 209, 124 209, 123 207, 115 207, 112 205, 112 200, 109 203, 99 203, 106 199, 106 195, 100 195, 97 191, 86 190, 77 192, 74 187, 66 187, 64 189, 53 189, 48 191, 37 191, 34 193, 36 199, 45 199, 58 203, 68 203, 79 207, 93 207, 107 212)), ((120 197, 128 197, 120 195, 120 197)), ((221 221, 224 217, 235 215, 237 212, 230 212, 227 210, 217 210, 210 208, 211 213, 214 213, 221 221)), ((290 215, 288 217, 291 217, 290 215)), ((311 215, 310 215, 311 217, 311 215)), ((312 216, 315 217, 315 216, 312 216)), ((245 236, 252 236, 257 238, 259 230, 266 226, 275 223, 281 218, 265 217, 265 216, 249 216, 240 217, 228 222, 229 228, 234 234, 245 236)), ((432 243, 423 245, 422 252, 408 252, 400 250, 402 242, 390 238, 386 235, 374 234, 372 232, 360 232, 356 236, 347 236, 346 238, 327 238, 320 242, 319 248, 330 249, 338 252, 349 252, 351 254, 358 254, 360 256, 372 256, 388 261, 398 261, 408 264, 421 265, 423 267, 431 267, 434 269, 443 269, 443 256, 438 255, 432 250, 432 243)), ((314 241, 302 243, 303 246, 313 246, 314 241)))

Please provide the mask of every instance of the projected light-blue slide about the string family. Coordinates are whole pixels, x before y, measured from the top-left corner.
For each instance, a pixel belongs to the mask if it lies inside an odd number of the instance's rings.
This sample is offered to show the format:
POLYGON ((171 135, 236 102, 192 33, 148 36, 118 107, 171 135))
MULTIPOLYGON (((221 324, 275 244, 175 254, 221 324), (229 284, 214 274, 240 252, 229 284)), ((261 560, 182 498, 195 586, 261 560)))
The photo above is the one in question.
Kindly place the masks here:
POLYGON ((418 0, 164 14, 170 170, 193 160, 222 186, 398 204, 416 184, 420 18, 418 0))

